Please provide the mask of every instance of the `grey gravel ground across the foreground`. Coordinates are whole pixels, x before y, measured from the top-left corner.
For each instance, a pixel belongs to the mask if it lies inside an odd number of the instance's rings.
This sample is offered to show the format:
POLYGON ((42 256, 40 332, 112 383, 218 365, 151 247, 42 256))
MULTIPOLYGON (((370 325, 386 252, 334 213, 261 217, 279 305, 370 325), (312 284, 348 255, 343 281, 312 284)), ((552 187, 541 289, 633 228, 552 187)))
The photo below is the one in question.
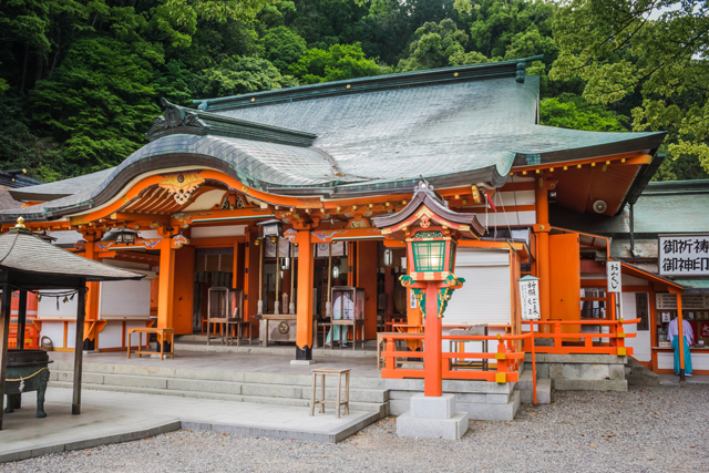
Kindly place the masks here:
POLYGON ((0 472, 709 471, 709 384, 555 392, 461 442, 399 439, 394 418, 337 445, 187 430, 0 464, 0 472))

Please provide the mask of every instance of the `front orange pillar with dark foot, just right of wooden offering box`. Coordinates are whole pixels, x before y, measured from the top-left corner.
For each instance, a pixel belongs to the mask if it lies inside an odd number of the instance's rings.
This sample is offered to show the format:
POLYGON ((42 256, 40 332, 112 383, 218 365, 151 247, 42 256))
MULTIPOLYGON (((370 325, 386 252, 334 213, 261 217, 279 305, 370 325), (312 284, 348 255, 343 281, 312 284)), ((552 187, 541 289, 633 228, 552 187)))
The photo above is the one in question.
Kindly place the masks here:
POLYGON ((298 297, 296 298, 296 360, 312 360, 312 275, 315 259, 310 230, 299 230, 298 243, 298 297))

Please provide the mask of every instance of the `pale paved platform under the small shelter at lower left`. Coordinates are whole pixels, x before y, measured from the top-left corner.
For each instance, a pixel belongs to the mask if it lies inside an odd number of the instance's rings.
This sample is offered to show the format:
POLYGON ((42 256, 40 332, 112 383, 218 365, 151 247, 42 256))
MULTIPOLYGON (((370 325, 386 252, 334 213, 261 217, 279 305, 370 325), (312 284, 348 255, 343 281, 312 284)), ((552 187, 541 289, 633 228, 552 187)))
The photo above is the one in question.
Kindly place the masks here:
POLYGON ((35 418, 34 393, 3 419, 0 463, 48 453, 126 442, 178 429, 278 439, 339 442, 379 420, 378 412, 308 415, 308 408, 218 400, 82 391, 81 415, 71 414, 71 390, 47 391, 45 419, 35 418))

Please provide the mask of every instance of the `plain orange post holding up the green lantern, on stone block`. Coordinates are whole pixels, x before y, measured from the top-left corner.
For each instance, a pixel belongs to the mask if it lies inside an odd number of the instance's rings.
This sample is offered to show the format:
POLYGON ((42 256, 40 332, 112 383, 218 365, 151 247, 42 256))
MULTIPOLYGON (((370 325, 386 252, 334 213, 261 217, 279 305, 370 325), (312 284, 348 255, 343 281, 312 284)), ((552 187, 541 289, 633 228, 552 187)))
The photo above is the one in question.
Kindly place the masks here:
POLYGON ((439 319, 435 282, 428 282, 425 288, 425 322, 423 329, 423 394, 440 397, 443 394, 443 372, 441 364, 441 319, 439 319))

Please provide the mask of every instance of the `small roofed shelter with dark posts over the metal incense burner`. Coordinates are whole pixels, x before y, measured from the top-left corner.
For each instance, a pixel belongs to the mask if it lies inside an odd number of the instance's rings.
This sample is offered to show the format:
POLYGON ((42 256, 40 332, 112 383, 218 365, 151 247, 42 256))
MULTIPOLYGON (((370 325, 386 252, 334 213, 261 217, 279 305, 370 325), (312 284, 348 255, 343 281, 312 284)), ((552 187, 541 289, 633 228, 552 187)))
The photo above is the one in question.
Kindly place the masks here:
MULTIPOLYGON (((44 241, 24 228, 22 218, 8 233, 0 235, 0 285, 2 301, 0 302, 0 400, 4 397, 4 380, 8 363, 8 345, 10 331, 10 310, 12 292, 20 291, 20 301, 27 301, 28 291, 65 290, 75 291, 76 310, 76 347, 83 345, 84 313, 88 281, 111 281, 141 279, 145 275, 114 268, 74 255, 44 241)), ((25 310, 20 305, 18 325, 19 333, 24 332, 25 310)), ((18 348, 24 347, 18 340, 18 348)), ((74 392, 72 413, 81 412, 81 371, 83 351, 74 351, 74 392)), ((0 409, 0 430, 2 429, 2 410, 0 409)))

